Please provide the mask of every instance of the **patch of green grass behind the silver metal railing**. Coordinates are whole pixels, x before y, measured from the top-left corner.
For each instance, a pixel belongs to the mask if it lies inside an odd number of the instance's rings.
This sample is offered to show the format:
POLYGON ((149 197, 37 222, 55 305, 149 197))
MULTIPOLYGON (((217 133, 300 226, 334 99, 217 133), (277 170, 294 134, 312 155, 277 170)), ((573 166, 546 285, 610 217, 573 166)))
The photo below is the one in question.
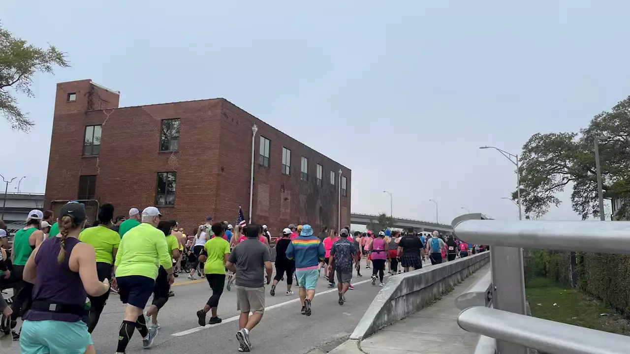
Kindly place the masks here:
POLYGON ((546 278, 532 278, 525 283, 525 292, 534 317, 630 335, 626 319, 599 300, 570 287, 546 278))

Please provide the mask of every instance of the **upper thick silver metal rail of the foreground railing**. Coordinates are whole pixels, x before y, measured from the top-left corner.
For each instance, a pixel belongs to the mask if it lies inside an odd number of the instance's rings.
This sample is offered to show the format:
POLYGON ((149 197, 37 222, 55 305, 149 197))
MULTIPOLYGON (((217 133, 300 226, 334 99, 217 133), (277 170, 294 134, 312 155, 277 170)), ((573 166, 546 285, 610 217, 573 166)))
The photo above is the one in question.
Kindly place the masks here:
POLYGON ((627 221, 464 220, 454 226, 454 231, 457 238, 473 244, 559 251, 630 253, 630 222, 627 221))

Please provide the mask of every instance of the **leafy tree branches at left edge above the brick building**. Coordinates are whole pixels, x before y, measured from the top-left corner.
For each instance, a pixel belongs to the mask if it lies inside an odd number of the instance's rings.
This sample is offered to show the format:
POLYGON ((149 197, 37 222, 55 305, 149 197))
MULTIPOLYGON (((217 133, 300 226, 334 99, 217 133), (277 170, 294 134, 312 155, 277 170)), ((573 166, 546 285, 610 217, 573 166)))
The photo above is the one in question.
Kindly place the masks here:
POLYGON ((35 123, 18 107, 15 93, 28 97, 33 76, 37 72, 52 74, 54 66, 68 67, 66 54, 49 45, 47 49, 35 47, 2 28, 0 24, 0 113, 11 128, 28 132, 35 123))

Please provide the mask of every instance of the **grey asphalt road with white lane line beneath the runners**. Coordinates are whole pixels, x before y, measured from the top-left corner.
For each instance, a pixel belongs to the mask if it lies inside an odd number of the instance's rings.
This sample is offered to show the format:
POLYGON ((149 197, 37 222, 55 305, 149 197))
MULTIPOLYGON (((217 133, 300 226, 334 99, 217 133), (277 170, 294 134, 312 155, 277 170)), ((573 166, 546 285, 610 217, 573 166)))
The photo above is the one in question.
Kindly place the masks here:
MULTIPOLYGON (((265 315, 250 334, 252 352, 307 353, 352 333, 380 289, 370 283, 371 270, 365 269, 365 261, 362 263, 364 277, 358 278, 354 274, 355 290, 348 291, 343 306, 337 304, 336 289, 326 287, 322 271, 310 317, 300 314, 297 288, 294 288, 295 295, 286 296, 286 283, 280 282, 275 297, 272 297, 268 292, 270 285, 267 285, 265 315)), ((162 328, 151 353, 238 353, 236 293, 233 290, 223 292, 219 302, 221 324, 199 327, 195 312, 202 309, 212 291, 205 279, 190 281, 180 275, 176 280, 175 297, 169 299, 159 314, 162 328)), ((115 353, 124 308, 118 295, 112 294, 92 334, 97 353, 115 353)), ((12 341, 10 336, 0 338, 0 353, 20 353, 19 342, 12 341)), ((134 333, 127 353, 148 353, 142 349, 139 333, 134 333)))

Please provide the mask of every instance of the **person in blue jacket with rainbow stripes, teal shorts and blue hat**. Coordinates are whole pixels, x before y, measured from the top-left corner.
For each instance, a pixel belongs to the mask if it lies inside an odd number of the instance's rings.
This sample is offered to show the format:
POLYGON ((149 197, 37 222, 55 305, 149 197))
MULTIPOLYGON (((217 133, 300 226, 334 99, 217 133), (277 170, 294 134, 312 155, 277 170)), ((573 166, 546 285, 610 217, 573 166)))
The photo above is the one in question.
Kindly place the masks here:
MULTIPOLYGON (((299 237, 291 240, 287 248, 287 258, 295 260, 295 275, 300 287, 302 314, 311 316, 311 302, 315 296, 315 287, 319 278, 318 265, 324 260, 326 251, 318 237, 313 236, 310 225, 304 225, 299 237)), ((330 273, 330 271, 329 271, 330 273)))

